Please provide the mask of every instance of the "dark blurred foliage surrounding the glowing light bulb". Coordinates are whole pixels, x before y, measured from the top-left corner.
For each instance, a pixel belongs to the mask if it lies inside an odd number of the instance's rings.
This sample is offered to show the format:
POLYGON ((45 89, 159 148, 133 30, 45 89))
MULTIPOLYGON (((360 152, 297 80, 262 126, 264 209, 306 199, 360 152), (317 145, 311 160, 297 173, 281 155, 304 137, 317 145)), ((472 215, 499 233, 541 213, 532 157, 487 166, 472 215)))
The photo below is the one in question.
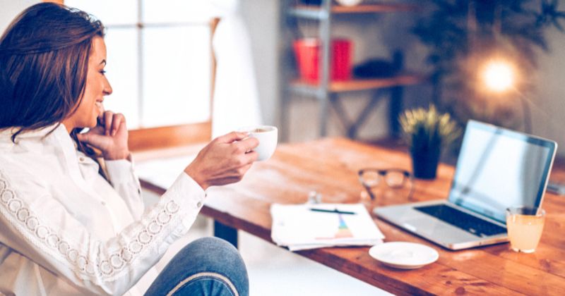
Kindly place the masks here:
POLYGON ((545 32, 565 32, 558 0, 429 0, 413 33, 429 48, 435 103, 461 125, 470 118, 508 128, 521 125, 518 95, 534 90, 537 54, 549 51, 545 32), (516 92, 492 94, 480 81, 489 59, 516 66, 516 92))

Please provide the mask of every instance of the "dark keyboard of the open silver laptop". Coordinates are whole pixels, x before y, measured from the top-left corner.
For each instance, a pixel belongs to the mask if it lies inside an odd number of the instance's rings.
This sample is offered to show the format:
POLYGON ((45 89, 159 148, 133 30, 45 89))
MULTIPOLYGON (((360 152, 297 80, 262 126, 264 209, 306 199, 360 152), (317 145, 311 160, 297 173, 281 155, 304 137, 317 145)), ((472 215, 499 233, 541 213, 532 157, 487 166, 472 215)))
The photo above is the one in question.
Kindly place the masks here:
POLYGON ((502 228, 494 223, 490 223, 489 221, 485 221, 463 211, 459 211, 458 209, 453 209, 451 206, 446 206, 445 204, 417 206, 415 209, 424 214, 439 218, 441 221, 461 228, 478 237, 506 233, 506 228, 502 228))

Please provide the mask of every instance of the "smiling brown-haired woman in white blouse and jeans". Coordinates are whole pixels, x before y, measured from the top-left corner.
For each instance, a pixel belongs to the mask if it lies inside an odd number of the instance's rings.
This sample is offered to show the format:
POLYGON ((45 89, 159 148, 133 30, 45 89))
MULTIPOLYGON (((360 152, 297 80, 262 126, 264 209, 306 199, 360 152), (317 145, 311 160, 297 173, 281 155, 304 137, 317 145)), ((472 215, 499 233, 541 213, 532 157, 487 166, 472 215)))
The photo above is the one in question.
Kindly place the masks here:
MULTIPOLYGON (((241 180, 257 157, 246 134, 218 137, 143 209, 125 118, 103 110, 103 36, 83 11, 43 3, 0 39, 0 294, 137 294, 204 190, 241 180)), ((208 238, 184 247, 146 294, 247 295, 248 285, 237 250, 208 238)))

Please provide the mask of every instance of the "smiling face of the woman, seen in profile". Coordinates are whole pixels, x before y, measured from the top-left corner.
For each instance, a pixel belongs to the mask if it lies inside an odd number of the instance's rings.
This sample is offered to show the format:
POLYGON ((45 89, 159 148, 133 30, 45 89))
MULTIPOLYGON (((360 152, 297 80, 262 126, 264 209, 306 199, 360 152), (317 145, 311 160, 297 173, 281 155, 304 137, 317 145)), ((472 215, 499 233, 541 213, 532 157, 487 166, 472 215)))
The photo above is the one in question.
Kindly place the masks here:
POLYGON ((73 128, 94 128, 97 117, 104 111, 102 101, 104 96, 112 94, 104 67, 106 66, 106 44, 102 37, 93 38, 90 58, 88 59, 88 73, 84 96, 75 113, 63 121, 66 129, 71 132, 73 128))

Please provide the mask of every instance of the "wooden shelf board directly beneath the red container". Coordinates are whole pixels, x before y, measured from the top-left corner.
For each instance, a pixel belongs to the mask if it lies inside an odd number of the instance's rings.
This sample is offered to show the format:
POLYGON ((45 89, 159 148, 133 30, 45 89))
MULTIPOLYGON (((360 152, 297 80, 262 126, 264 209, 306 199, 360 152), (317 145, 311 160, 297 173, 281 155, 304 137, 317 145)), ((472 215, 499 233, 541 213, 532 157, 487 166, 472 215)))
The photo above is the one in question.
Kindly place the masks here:
MULTIPOLYGON (((350 92, 356 90, 374 90, 383 87, 400 85, 417 85, 426 81, 423 75, 404 74, 392 78, 352 79, 347 81, 333 81, 330 83, 330 92, 350 92)), ((317 87, 313 82, 295 80, 292 85, 301 87, 317 87)))

